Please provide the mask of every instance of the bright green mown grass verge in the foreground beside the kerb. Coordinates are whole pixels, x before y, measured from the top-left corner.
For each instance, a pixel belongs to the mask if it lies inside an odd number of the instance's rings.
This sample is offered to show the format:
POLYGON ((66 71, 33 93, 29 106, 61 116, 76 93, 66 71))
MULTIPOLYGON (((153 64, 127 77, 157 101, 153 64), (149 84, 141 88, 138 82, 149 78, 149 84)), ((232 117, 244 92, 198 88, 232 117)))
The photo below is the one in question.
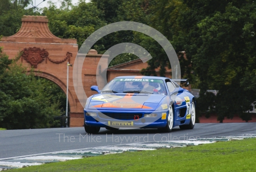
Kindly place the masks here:
POLYGON ((185 148, 124 152, 56 162, 10 172, 66 171, 255 171, 256 139, 244 139, 185 148))

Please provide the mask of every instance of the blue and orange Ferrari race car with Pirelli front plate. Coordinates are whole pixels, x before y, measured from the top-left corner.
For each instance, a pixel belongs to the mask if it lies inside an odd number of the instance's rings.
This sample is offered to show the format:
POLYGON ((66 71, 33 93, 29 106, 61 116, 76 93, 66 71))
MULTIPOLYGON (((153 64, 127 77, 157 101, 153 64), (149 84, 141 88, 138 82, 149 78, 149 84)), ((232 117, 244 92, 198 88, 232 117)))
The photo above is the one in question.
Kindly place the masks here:
POLYGON ((176 82, 157 76, 119 76, 86 100, 84 129, 98 133, 100 127, 118 130, 120 127, 157 128, 171 132, 175 126, 193 129, 195 97, 176 82))

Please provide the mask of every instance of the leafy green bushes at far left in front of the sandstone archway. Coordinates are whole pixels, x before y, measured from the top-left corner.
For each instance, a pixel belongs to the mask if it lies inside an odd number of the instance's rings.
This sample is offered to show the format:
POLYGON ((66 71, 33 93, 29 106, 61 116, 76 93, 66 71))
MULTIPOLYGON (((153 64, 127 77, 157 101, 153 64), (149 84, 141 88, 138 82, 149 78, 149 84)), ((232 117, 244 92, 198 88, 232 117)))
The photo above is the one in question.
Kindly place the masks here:
POLYGON ((26 68, 8 59, 2 49, 0 52, 0 127, 32 129, 58 126, 59 121, 54 121, 54 116, 61 115, 62 95, 56 91, 57 86, 36 78, 33 72, 27 75, 26 68))

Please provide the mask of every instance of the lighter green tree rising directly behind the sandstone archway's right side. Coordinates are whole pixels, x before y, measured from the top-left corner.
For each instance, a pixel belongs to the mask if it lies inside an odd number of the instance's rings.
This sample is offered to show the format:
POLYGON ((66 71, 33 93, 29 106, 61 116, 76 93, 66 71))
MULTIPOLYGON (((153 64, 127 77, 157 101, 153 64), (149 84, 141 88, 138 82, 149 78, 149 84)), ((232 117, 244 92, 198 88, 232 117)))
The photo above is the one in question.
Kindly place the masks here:
POLYGON ((53 35, 60 38, 75 38, 79 48, 89 35, 106 24, 102 20, 102 12, 96 5, 85 3, 84 0, 77 6, 70 6, 67 1, 62 4, 62 8, 50 4, 49 8, 44 8, 41 15, 48 17, 53 35))

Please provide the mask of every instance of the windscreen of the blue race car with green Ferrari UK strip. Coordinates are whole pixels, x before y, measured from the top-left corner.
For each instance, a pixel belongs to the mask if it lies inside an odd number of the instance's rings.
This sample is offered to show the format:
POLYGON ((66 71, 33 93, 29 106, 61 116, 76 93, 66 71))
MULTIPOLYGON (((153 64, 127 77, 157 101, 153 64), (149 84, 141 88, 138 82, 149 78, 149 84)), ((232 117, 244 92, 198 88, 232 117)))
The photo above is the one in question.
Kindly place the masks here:
POLYGON ((160 79, 113 79, 103 88, 103 90, 101 90, 101 92, 166 95, 164 81, 160 79))

